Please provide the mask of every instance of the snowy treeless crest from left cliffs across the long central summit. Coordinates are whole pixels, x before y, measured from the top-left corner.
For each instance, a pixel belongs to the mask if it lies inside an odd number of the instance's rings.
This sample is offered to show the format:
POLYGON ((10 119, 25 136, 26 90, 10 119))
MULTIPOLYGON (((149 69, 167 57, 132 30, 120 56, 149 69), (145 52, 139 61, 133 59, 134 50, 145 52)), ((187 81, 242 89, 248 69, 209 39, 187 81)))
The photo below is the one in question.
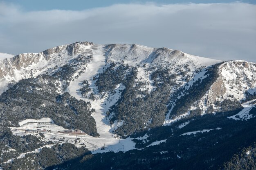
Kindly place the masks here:
POLYGON ((50 72, 55 66, 61 67, 78 56, 98 51, 103 51, 102 55, 106 58, 105 64, 108 62, 121 63, 123 61, 124 64, 130 66, 145 63, 147 66, 165 65, 166 68, 174 70, 175 67, 172 65, 177 63, 179 66, 189 65, 189 68, 192 69, 190 74, 195 69, 220 62, 168 48, 156 49, 135 44, 92 45, 89 42, 78 42, 50 48, 40 53, 19 54, 15 57, 1 60, 0 78, 2 78, 1 83, 4 82, 1 85, 1 92, 2 88, 6 88, 6 85, 10 82, 17 82, 22 78, 35 77, 39 74, 50 72), (97 48, 99 46, 101 47, 100 49, 97 48))

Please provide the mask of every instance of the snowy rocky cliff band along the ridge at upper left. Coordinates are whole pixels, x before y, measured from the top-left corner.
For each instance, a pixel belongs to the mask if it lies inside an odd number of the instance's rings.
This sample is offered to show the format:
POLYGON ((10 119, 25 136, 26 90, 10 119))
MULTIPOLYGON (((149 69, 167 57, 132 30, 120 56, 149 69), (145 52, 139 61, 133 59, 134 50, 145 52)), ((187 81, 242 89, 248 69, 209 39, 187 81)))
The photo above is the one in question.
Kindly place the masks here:
POLYGON ((73 56, 82 55, 86 47, 92 45, 93 43, 88 41, 76 42, 39 53, 19 54, 10 59, 0 60, 0 82, 2 82, 0 93, 7 88, 9 83, 37 76, 56 65, 61 66, 73 56))

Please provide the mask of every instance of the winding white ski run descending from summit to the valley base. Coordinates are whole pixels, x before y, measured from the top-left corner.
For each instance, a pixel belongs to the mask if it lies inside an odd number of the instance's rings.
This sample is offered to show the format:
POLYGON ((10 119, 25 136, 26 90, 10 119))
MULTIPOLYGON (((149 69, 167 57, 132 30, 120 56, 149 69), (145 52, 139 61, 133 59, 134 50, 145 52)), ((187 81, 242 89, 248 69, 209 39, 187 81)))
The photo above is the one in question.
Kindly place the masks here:
POLYGON ((110 132, 111 126, 108 123, 106 117, 106 111, 108 111, 108 105, 106 98, 100 98, 96 95, 96 100, 91 100, 89 98, 83 98, 79 89, 81 88, 81 83, 84 80, 88 80, 90 84, 90 88, 92 90, 97 91, 92 78, 97 73, 101 72, 103 67, 105 66, 106 57, 103 54, 103 46, 95 45, 92 46, 93 50, 93 60, 88 63, 87 69, 81 76, 74 79, 74 81, 70 82, 70 85, 67 87, 67 92, 70 93, 71 96, 74 96, 78 100, 85 100, 86 102, 90 102, 92 108, 96 111, 92 113, 92 117, 96 121, 97 131, 100 137, 92 137, 90 138, 90 142, 99 148, 105 146, 105 150, 92 150, 95 152, 105 152, 105 151, 127 151, 130 149, 135 149, 135 143, 131 141, 131 138, 120 139, 118 136, 112 134, 110 132))

